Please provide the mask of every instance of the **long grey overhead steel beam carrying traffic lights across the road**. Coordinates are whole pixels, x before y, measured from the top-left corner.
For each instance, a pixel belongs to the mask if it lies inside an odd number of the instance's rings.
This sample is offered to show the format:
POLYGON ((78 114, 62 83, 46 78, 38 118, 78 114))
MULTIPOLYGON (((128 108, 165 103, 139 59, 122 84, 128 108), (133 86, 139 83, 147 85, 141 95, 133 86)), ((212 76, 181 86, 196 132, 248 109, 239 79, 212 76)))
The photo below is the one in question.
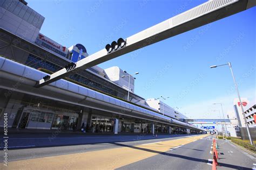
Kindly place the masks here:
MULTIPOLYGON (((165 20, 157 25, 149 27, 137 34, 126 39, 126 46, 115 52, 107 53, 102 49, 76 63, 75 69, 67 71, 65 68, 50 75, 48 80, 39 80, 35 87, 42 87, 51 82, 62 79, 69 74, 74 74, 80 70, 90 68, 99 63, 111 60, 120 55, 135 51, 136 49, 154 44, 158 41, 176 36, 180 33, 190 31, 208 23, 215 22, 244 11, 255 6, 255 0, 211 0, 196 6, 188 11, 180 13, 170 19, 165 20)), ((111 42, 110 42, 111 43, 111 42)))

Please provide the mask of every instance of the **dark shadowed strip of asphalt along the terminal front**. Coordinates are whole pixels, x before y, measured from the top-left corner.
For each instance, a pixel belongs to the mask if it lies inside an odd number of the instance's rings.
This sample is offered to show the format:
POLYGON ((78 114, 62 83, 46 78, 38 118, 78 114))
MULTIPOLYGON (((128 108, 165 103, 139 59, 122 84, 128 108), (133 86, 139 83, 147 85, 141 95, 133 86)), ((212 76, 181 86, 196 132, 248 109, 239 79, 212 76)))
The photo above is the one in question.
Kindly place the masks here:
MULTIPOLYGON (((158 134, 157 138, 172 138, 193 136, 194 134, 158 134)), ((0 139, 3 136, 0 136, 0 139)), ((97 143, 112 143, 119 141, 137 141, 155 139, 152 134, 63 134, 63 133, 16 133, 9 134, 8 148, 33 148, 51 146, 69 146, 97 143)), ((4 140, 1 140, 0 149, 4 147, 4 140)))

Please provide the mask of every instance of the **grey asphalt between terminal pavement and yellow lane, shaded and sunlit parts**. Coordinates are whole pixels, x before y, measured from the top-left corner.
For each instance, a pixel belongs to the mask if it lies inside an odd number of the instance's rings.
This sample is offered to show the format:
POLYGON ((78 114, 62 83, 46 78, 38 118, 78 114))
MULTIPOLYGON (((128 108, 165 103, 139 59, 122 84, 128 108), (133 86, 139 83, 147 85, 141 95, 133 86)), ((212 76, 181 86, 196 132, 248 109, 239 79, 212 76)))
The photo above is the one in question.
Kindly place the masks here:
MULTIPOLYGON (((196 136, 196 134, 172 134, 172 135, 79 135, 61 134, 55 141, 49 141, 49 134, 19 134, 9 138, 9 161, 49 157, 71 153, 106 150, 126 146, 155 143, 158 141, 182 139, 196 136), (28 146, 28 147, 26 147, 28 146)), ((197 135, 198 136, 198 135, 197 135)), ((199 135, 200 136, 200 135, 199 135)), ((2 155, 1 149, 0 154, 2 155)))

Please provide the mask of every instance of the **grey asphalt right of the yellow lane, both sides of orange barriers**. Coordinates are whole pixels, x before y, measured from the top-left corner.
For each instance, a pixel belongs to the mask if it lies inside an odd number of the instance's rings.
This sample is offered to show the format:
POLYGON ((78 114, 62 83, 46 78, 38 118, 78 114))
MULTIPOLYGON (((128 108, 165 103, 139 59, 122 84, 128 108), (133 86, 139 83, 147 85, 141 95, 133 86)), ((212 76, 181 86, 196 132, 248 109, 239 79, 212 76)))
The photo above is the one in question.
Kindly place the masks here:
MULTIPOLYGON (((229 141, 217 142, 220 158, 217 169, 255 169, 255 157, 229 141)), ((207 137, 118 169, 212 169, 211 146, 212 137, 207 137)))

